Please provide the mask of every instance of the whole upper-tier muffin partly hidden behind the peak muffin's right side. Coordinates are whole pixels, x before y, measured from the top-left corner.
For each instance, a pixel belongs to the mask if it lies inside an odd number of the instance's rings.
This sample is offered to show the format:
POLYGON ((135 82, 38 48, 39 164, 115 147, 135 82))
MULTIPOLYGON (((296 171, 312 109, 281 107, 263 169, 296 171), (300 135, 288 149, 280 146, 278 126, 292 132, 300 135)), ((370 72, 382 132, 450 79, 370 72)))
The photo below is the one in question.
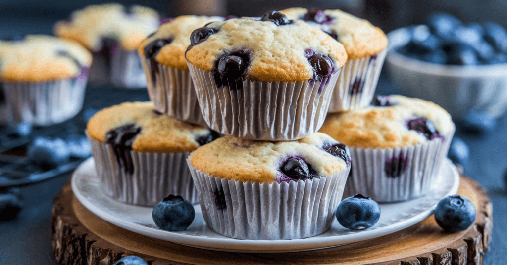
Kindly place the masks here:
POLYGON ((345 47, 348 60, 340 73, 330 112, 367 106, 375 93, 386 55, 387 36, 365 19, 341 10, 291 8, 280 11, 322 29, 345 47))

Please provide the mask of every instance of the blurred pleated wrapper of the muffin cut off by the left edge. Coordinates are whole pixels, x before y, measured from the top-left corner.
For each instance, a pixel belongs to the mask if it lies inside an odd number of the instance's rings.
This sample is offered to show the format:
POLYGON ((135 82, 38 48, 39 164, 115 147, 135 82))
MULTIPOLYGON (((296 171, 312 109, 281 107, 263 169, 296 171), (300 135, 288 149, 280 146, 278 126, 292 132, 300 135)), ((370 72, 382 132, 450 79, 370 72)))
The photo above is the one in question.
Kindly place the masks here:
POLYGON ((73 118, 83 108, 87 73, 52 82, 4 82, 5 122, 48 126, 73 118))

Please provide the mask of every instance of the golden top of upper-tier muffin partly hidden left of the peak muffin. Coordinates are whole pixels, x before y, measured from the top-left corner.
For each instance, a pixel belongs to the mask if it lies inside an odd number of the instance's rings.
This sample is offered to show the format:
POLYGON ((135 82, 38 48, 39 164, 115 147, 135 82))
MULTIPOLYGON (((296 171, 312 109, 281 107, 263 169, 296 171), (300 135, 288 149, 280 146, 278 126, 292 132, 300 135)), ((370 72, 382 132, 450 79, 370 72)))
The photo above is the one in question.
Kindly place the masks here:
POLYGON ((160 48, 160 52, 156 55, 156 60, 166 66, 188 70, 185 61, 185 51, 190 45, 190 34, 194 29, 203 27, 212 21, 222 21, 223 17, 207 17, 207 16, 179 16, 174 20, 164 23, 146 40, 142 41, 139 46, 139 54, 144 57, 144 48, 152 42, 164 39, 170 42, 160 48))

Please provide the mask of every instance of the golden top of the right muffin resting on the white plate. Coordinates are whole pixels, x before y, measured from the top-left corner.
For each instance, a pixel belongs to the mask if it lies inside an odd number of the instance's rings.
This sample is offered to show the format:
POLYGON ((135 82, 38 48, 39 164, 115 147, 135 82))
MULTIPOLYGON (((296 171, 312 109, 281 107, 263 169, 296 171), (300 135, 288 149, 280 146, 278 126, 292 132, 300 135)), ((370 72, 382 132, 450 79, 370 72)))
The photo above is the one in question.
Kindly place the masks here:
POLYGON ((441 140, 455 130, 449 113, 433 102, 397 95, 385 99, 390 106, 368 106, 330 113, 319 131, 348 146, 396 148, 436 138, 441 140), (431 124, 421 118, 429 120, 438 133, 424 134, 425 126, 431 127, 431 124))

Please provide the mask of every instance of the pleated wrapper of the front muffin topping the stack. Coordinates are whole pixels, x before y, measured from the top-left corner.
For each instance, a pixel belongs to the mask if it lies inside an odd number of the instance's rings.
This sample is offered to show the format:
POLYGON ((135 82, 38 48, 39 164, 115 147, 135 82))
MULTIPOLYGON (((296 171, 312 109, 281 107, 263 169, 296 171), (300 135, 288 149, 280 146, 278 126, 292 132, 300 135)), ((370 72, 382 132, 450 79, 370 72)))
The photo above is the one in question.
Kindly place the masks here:
MULTIPOLYGON (((222 134, 266 141, 297 140, 317 132, 327 115, 339 71, 320 81, 260 82, 217 88, 210 71, 187 62, 207 125, 222 134)), ((223 80, 227 84, 227 79, 223 80)))

